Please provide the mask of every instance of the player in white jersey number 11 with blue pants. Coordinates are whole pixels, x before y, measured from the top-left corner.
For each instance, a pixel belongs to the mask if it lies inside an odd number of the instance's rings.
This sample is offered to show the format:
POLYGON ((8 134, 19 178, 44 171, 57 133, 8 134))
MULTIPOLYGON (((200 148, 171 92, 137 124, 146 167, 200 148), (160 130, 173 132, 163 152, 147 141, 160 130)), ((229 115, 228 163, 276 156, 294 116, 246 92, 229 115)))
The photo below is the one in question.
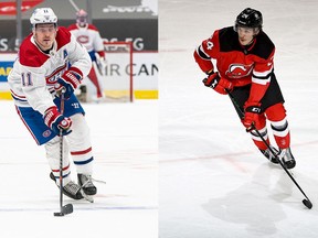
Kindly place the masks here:
POLYGON ((89 55, 65 28, 57 26, 51 8, 36 9, 30 22, 32 33, 23 40, 8 76, 18 115, 35 142, 44 144, 50 177, 57 186, 62 130, 67 139, 63 145, 63 193, 74 199, 85 194, 93 196, 97 190, 92 182, 89 129, 84 109, 73 94, 92 67, 89 55), (61 93, 65 97, 64 115, 60 113, 61 93), (70 152, 78 184, 71 180, 70 152))

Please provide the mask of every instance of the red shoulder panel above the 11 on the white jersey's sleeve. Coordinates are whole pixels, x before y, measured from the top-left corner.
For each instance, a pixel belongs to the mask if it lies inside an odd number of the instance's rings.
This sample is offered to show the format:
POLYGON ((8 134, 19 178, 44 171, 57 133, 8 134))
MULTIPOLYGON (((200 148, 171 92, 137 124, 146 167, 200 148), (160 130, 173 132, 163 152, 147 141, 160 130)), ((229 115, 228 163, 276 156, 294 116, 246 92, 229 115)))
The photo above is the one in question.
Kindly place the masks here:
POLYGON ((23 40, 19 51, 19 61, 21 65, 30 67, 40 67, 43 65, 49 56, 43 54, 36 45, 31 42, 33 34, 30 34, 26 39, 23 40))

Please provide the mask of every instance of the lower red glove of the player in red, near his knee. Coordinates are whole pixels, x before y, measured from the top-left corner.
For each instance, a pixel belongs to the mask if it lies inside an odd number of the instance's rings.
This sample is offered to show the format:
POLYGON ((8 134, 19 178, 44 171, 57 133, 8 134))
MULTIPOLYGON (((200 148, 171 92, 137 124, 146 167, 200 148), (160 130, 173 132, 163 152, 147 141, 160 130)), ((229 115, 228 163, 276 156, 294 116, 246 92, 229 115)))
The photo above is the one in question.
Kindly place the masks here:
POLYGON ((246 128, 246 131, 253 130, 253 125, 255 128, 258 128, 259 125, 259 113, 262 112, 261 104, 258 102, 248 102, 244 105, 245 116, 243 119, 243 125, 246 128))

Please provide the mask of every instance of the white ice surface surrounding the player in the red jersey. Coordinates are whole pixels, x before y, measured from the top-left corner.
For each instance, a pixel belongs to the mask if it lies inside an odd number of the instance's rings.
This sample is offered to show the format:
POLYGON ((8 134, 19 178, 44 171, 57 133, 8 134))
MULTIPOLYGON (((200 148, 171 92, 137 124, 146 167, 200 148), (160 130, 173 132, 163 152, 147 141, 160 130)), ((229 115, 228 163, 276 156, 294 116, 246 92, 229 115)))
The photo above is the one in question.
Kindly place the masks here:
MULTIPOLYGON (((318 1, 159 0, 160 238, 318 237, 318 1), (226 96, 205 88, 193 51, 246 7, 276 45, 294 176, 269 164, 226 96)), ((273 138, 272 141, 274 142, 273 138)))

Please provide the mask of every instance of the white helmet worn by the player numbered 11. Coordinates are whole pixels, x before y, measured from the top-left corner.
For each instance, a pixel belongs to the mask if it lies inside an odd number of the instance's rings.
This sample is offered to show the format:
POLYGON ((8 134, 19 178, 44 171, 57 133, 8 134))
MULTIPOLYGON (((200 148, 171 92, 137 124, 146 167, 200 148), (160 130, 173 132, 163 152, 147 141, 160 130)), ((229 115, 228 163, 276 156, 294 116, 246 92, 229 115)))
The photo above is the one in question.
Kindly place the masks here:
POLYGON ((51 8, 38 8, 33 11, 30 22, 33 26, 43 23, 57 23, 57 17, 51 8))

